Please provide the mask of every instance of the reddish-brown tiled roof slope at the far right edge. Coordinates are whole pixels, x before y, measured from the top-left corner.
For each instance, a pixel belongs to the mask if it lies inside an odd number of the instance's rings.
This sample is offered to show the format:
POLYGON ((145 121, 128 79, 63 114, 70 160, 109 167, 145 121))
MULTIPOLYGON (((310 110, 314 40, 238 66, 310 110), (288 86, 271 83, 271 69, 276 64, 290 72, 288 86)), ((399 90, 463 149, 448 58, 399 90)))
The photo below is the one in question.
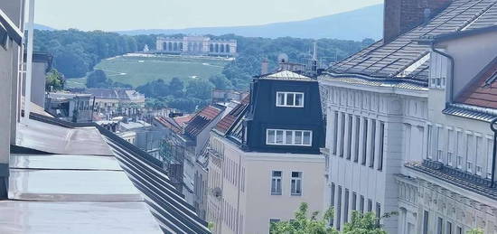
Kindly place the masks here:
POLYGON ((457 102, 483 108, 497 109, 497 58, 464 89, 457 102))

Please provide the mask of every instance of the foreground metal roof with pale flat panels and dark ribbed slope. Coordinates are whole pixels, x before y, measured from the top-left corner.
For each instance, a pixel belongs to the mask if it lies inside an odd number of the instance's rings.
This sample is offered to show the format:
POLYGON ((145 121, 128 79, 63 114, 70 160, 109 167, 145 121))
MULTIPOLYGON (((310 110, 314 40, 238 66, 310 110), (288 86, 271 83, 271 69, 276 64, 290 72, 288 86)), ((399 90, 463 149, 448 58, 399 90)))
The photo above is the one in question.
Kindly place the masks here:
MULTIPOLYGON (((33 233, 210 233, 150 154, 95 124, 31 118, 20 129, 11 164, 21 176, 11 177, 12 183, 23 186, 11 186, 10 194, 21 201, 0 202, 0 212, 29 215, 33 233), (39 219, 46 215, 57 221, 39 219)), ((0 232, 28 228, 19 220, 6 222, 0 232)))

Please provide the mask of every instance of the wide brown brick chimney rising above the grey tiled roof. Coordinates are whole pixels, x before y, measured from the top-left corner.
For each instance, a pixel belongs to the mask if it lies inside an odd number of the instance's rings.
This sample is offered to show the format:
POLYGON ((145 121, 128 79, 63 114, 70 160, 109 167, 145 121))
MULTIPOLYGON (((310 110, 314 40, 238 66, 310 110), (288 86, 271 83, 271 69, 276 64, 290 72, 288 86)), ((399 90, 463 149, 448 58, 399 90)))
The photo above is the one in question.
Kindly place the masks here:
POLYGON ((383 42, 394 41, 447 7, 452 0, 385 0, 383 42))

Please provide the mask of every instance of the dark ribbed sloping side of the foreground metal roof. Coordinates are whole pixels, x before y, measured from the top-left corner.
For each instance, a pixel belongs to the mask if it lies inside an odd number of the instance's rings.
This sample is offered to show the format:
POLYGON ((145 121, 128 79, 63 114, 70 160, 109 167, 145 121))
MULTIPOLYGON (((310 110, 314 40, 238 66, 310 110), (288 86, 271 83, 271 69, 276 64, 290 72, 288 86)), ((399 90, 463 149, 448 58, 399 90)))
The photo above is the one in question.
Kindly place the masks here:
POLYGON ((34 113, 31 113, 31 117, 44 124, 68 129, 96 127, 100 134, 98 137, 107 143, 108 152, 117 158, 131 183, 141 192, 164 233, 211 233, 207 223, 197 216, 194 208, 184 200, 181 192, 174 188, 173 183, 164 173, 162 163, 155 157, 96 124, 69 123, 34 113))

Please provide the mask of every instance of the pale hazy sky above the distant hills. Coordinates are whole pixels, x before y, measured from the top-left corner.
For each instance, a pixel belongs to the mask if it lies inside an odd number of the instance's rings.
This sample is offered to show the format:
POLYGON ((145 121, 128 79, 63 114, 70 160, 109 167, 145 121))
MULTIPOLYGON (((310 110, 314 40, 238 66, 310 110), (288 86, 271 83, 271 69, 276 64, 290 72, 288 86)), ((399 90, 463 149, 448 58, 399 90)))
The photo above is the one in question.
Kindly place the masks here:
POLYGON ((311 19, 383 0, 36 0, 35 23, 121 31, 241 26, 311 19))

